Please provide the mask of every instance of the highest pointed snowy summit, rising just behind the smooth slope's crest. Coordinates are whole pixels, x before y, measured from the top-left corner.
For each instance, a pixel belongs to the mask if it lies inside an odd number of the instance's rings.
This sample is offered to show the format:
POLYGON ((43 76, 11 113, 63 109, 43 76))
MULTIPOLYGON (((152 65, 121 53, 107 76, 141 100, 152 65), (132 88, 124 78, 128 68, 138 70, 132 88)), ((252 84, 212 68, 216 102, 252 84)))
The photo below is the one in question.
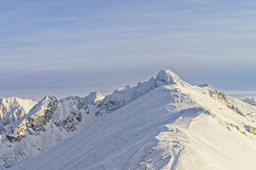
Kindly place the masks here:
POLYGON ((173 73, 171 70, 160 70, 156 76, 156 87, 178 84, 180 86, 190 86, 173 73))

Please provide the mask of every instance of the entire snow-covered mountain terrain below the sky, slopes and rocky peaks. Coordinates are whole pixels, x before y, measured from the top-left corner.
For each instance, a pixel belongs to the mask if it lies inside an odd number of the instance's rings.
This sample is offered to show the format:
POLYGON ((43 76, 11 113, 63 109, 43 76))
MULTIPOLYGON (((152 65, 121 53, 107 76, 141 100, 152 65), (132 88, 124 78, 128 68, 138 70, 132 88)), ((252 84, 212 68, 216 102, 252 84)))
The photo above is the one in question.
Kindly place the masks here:
POLYGON ((171 70, 105 97, 2 98, 0 169, 254 169, 254 105, 171 70))

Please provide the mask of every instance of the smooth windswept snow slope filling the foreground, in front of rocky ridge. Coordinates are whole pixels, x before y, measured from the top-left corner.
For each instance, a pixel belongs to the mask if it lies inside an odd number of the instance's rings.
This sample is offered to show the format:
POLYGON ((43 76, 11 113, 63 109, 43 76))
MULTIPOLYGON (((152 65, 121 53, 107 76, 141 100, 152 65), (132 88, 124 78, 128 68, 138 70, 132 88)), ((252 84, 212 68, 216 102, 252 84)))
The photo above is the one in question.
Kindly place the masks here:
POLYGON ((10 169, 255 169, 253 105, 210 85, 159 80, 163 86, 10 169))

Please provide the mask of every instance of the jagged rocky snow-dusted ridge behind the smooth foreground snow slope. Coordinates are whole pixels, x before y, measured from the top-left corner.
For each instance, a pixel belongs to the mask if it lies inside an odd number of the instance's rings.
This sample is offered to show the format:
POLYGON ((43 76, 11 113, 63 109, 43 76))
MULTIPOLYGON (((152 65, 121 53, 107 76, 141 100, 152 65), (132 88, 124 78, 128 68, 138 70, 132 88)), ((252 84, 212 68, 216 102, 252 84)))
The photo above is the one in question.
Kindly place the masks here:
MULTIPOLYGON (((4 122, 0 126, 1 148, 7 152, 1 153, 0 156, 6 159, 0 161, 0 165, 9 165, 35 156, 64 139, 72 137, 96 121, 98 116, 111 113, 157 87, 171 84, 191 86, 171 70, 161 70, 156 78, 152 77, 148 82, 139 82, 135 87, 118 88, 113 94, 105 97, 99 92, 91 92, 85 97, 69 96, 60 100, 57 100, 55 96, 48 95, 38 103, 26 99, 30 101, 29 104, 26 104, 26 108, 31 108, 31 105, 34 107, 30 110, 20 111, 22 114, 19 117, 13 110, 10 110, 8 114, 3 111, 1 113, 0 121, 4 122), (8 115, 15 117, 15 120, 5 121, 8 115), (45 138, 53 142, 46 142, 45 138), (35 146, 38 151, 34 152, 35 148, 31 150, 23 147, 26 146, 23 145, 25 142, 35 146), (10 149, 6 149, 10 147, 15 148, 14 152, 9 152, 10 149), (26 156, 20 156, 23 154, 26 156)), ((15 99, 22 100, 17 97, 15 99)), ((1 100, 11 100, 11 98, 1 100)), ((15 105, 22 108, 24 104, 16 103, 15 105)))

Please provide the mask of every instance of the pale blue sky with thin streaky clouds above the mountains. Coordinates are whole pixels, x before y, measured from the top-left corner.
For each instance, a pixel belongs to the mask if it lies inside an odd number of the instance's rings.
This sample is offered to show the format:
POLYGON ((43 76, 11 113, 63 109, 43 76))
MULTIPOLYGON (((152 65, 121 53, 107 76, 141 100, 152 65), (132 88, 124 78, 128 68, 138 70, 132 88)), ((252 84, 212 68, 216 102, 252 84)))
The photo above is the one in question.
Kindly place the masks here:
POLYGON ((255 1, 1 1, 0 97, 111 94, 170 69, 256 97, 255 1))

